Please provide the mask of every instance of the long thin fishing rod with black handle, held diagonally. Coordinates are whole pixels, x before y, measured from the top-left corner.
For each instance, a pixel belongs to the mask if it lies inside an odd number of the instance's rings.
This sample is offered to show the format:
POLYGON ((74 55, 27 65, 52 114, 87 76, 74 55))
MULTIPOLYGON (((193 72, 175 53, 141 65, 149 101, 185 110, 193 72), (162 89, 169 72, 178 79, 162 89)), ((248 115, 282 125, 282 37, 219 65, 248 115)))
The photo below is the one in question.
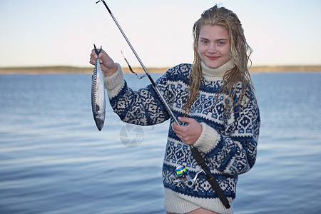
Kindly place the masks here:
MULTIPOLYGON (((175 123, 177 123, 178 125, 180 125, 180 122, 178 121, 178 119, 176 118, 176 116, 174 115, 173 111, 170 109, 170 106, 168 106, 168 103, 165 101, 164 96, 161 94, 161 91, 159 91, 158 87, 156 86, 156 83, 154 82, 153 78, 151 77, 151 75, 148 73, 146 67, 144 66, 143 62, 141 61, 141 58, 139 58, 138 54, 136 53, 135 49, 133 48, 133 46, 131 45, 131 42, 128 40, 126 34, 123 32, 123 29, 121 29, 121 26, 118 24, 118 21, 116 20, 115 16, 113 16, 113 13, 111 12, 111 9, 109 9, 108 5, 106 4, 106 2, 104 0, 99 0, 96 2, 96 4, 98 2, 103 2, 103 4, 105 5, 106 9, 108 10, 109 14, 111 14, 111 18, 113 18, 113 21, 115 22, 115 24, 118 26, 118 29, 121 31, 121 34, 123 34, 123 37, 125 38, 125 40, 127 41, 127 44, 131 47, 131 50, 133 51, 133 54, 135 54, 138 62, 141 64, 141 67, 143 68, 143 70, 146 73, 146 76, 148 76, 149 80, 151 81, 153 87, 156 89, 156 92, 158 93, 158 96, 160 96, 161 100, 163 101, 168 113, 170 113, 170 116, 173 118, 173 120, 175 121, 175 123)), ((218 195, 218 198, 220 198, 220 201, 223 203, 223 205, 225 206, 225 208, 230 208, 230 204, 228 202, 228 198, 226 198, 223 190, 220 188, 220 185, 218 185, 218 182, 216 181, 216 179, 214 178, 214 175, 210 172, 210 168, 208 167, 208 165, 205 164, 204 158, 203 156, 200 154, 200 151, 198 151, 197 148, 193 147, 190 145, 190 150, 192 151, 192 155, 195 158, 195 161, 198 163, 198 165, 200 165, 200 167, 203 169, 203 173, 205 174, 205 177, 208 179, 208 182, 210 183, 210 185, 212 186, 213 190, 215 191, 216 195, 218 195)))

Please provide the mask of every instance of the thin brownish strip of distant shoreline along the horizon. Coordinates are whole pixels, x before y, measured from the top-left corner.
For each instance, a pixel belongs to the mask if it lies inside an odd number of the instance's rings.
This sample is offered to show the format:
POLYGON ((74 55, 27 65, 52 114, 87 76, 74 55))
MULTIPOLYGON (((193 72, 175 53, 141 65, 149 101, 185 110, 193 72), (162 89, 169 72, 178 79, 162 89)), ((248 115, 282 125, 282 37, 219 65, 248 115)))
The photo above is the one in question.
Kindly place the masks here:
MULTIPOLYGON (((133 68, 137 73, 144 73, 143 68, 133 68)), ((150 73, 165 73, 168 68, 147 68, 150 73)), ((123 68, 125 73, 130 73, 128 68, 123 68)), ((276 73, 276 72, 320 72, 321 66, 253 66, 251 73, 276 73)), ((44 66, 44 67, 9 67, 0 68, 0 74, 72 74, 93 73, 93 67, 82 68, 73 66, 44 66)))

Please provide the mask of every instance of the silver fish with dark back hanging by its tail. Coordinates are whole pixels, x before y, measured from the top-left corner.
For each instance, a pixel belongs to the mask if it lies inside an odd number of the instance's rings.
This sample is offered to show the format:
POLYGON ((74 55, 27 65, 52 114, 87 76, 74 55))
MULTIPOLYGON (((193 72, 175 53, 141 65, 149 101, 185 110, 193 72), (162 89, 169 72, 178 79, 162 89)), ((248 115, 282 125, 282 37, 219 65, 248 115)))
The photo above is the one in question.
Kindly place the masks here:
POLYGON ((93 109, 93 119, 99 131, 103 128, 106 114, 106 96, 105 86, 103 83, 103 73, 101 72, 101 64, 99 63, 99 51, 95 47, 97 59, 95 63, 95 69, 93 69, 93 76, 91 77, 91 108, 93 109))

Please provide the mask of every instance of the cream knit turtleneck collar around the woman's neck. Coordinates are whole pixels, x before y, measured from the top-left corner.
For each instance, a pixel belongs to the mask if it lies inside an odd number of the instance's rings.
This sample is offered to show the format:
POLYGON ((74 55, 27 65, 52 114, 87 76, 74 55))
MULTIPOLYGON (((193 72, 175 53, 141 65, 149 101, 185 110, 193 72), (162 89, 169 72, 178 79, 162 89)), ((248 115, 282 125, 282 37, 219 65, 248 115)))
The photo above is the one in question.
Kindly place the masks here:
POLYGON ((205 79, 208 81, 215 81, 218 79, 223 79, 223 76, 226 71, 234 68, 235 63, 232 60, 228 61, 227 63, 223 64, 218 68, 209 68, 205 65, 203 61, 200 62, 202 67, 202 73, 205 79))

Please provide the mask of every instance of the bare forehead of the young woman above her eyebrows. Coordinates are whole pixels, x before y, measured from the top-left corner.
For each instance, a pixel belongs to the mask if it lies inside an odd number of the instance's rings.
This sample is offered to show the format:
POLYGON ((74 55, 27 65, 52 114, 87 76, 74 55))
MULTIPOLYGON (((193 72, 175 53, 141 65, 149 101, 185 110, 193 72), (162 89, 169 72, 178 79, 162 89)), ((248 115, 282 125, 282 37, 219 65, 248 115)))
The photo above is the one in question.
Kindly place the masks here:
POLYGON ((200 38, 228 39, 228 30, 223 26, 203 25, 200 27, 200 38))

